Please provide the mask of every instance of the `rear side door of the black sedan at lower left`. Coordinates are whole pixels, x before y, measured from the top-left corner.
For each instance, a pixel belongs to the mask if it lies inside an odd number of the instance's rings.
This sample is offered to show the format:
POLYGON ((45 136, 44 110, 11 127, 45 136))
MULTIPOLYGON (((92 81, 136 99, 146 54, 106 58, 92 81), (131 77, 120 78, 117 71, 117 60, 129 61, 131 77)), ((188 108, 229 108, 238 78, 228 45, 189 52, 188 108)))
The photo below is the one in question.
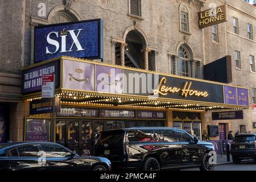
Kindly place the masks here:
POLYGON ((38 144, 26 144, 9 150, 10 167, 14 171, 44 170, 45 165, 40 163, 38 144))

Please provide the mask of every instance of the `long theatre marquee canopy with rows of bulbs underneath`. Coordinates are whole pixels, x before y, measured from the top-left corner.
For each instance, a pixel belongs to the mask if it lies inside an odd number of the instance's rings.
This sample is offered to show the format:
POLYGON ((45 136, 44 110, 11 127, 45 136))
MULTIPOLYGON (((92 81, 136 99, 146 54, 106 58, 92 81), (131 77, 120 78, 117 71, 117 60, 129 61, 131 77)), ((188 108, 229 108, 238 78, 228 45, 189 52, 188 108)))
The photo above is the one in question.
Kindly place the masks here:
POLYGON ((55 73, 61 105, 191 111, 249 107, 248 89, 220 82, 60 57, 22 71, 24 100, 41 98, 42 75, 55 73))

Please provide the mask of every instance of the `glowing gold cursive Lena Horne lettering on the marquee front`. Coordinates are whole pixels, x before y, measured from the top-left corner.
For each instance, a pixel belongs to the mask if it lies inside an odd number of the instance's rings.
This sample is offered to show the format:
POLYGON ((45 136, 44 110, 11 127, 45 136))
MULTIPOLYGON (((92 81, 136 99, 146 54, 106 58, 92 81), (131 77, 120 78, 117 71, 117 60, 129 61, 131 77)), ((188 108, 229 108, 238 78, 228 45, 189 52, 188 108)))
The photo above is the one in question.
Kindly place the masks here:
POLYGON ((166 86, 166 78, 163 77, 159 83, 158 89, 154 90, 153 94, 160 94, 162 96, 166 96, 168 93, 178 93, 181 92, 181 96, 196 96, 196 97, 208 97, 208 92, 201 92, 198 90, 192 90, 192 82, 185 82, 183 89, 177 87, 166 86))

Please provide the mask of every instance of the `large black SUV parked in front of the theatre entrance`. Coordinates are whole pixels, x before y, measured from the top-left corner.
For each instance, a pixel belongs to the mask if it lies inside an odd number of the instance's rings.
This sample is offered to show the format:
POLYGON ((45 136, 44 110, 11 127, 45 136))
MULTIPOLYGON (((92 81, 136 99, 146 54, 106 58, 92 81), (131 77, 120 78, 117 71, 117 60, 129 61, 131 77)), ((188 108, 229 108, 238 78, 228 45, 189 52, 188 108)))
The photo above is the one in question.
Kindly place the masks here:
POLYGON ((108 158, 114 169, 143 171, 192 167, 212 171, 210 151, 214 151, 212 143, 170 127, 103 131, 95 145, 96 156, 108 158))

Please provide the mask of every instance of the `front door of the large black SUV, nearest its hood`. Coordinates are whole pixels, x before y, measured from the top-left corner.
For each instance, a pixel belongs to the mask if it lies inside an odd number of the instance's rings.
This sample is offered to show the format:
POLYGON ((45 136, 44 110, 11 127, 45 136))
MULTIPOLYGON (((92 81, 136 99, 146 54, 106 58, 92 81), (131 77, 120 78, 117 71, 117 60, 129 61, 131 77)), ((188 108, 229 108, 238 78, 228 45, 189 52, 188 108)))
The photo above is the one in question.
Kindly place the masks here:
POLYGON ((181 145, 181 164, 199 164, 201 158, 200 147, 193 140, 193 137, 183 130, 176 130, 175 135, 181 145))

